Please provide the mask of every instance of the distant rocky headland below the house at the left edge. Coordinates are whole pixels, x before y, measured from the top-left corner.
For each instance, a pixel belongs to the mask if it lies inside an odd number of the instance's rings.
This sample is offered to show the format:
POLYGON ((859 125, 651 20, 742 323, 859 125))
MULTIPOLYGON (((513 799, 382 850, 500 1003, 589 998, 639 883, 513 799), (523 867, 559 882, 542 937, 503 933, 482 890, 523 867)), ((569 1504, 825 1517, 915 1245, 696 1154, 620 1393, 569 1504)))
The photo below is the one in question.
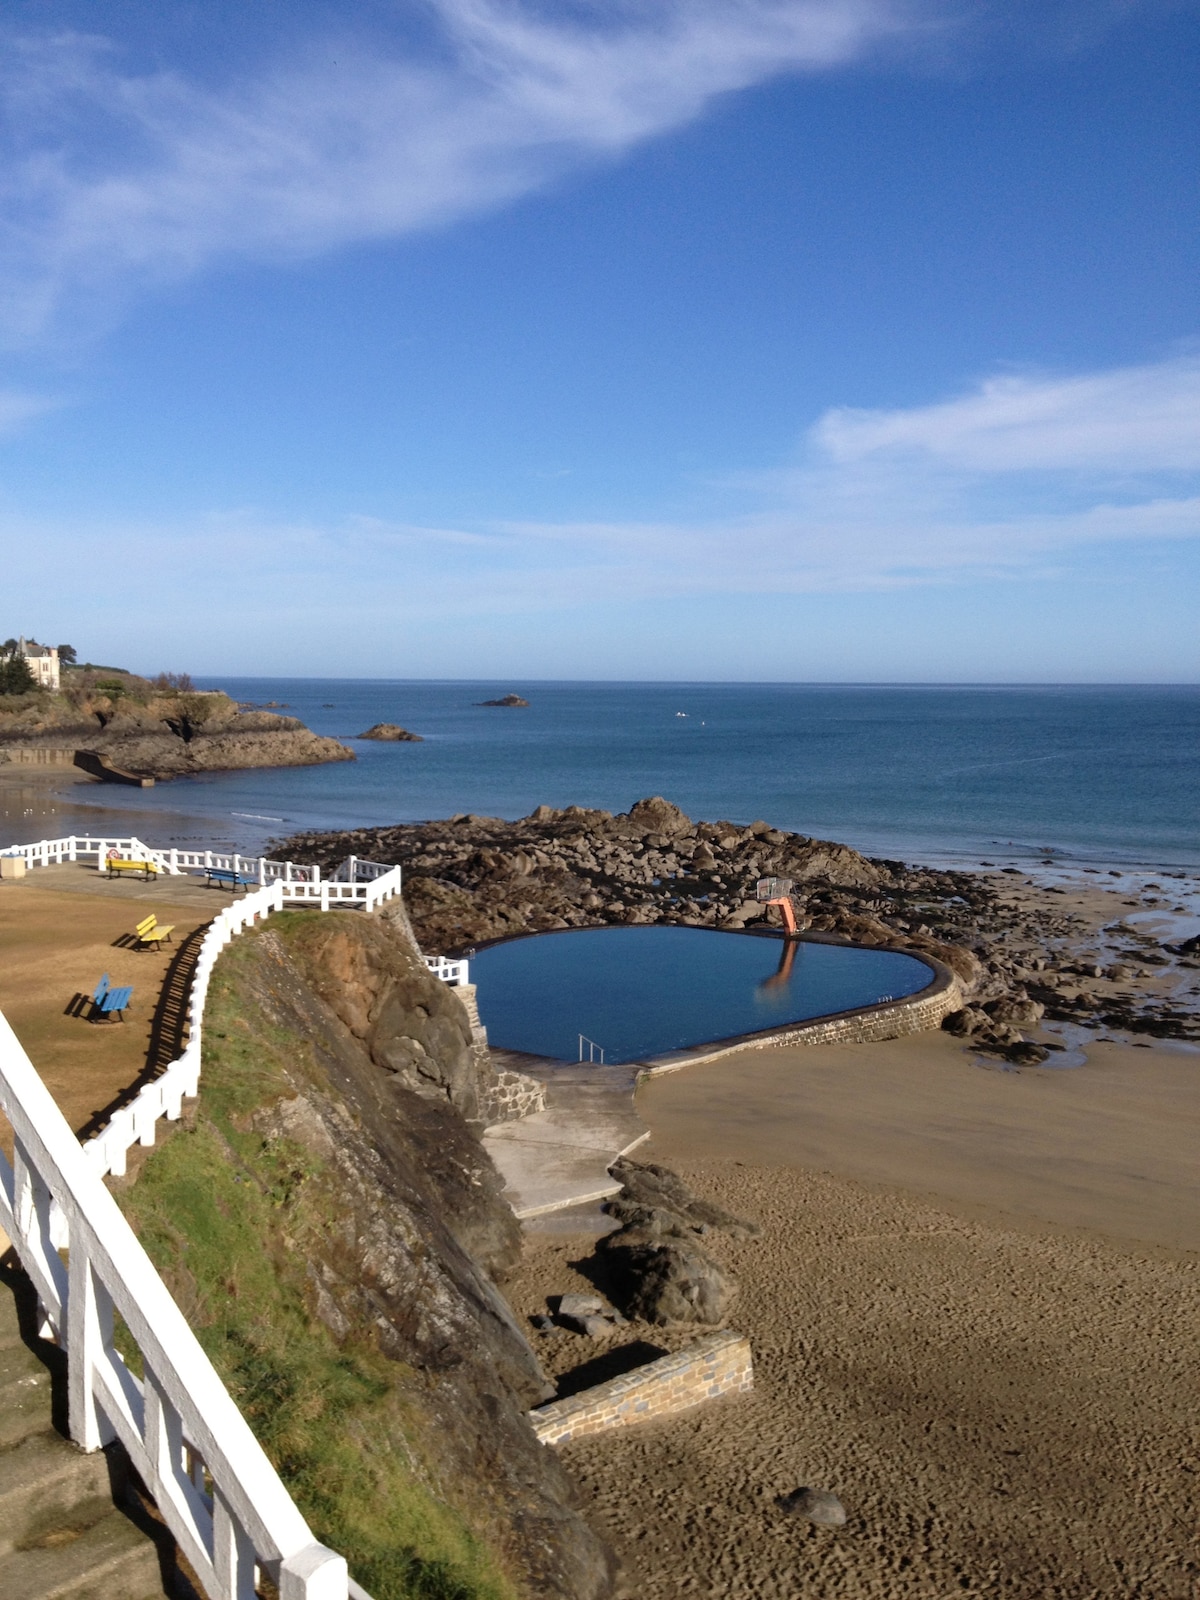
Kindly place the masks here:
POLYGON ((58 694, 0 699, 0 765, 70 766, 77 752, 94 758, 78 762, 93 776, 134 779, 354 760, 354 750, 298 717, 245 709, 219 691, 158 688, 131 674, 70 674, 58 694))

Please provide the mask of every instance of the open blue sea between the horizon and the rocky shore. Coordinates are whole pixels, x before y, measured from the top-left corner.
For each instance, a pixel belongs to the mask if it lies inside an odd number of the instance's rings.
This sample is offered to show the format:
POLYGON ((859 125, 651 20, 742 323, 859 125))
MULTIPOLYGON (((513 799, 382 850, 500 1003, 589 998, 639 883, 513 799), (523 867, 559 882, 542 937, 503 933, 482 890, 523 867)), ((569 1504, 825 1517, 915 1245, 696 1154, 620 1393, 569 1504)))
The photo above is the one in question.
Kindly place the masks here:
POLYGON ((624 811, 662 794, 696 818, 763 818, 914 861, 1010 861, 1050 848, 1064 859, 1200 866, 1195 686, 206 686, 286 701, 320 733, 352 736, 389 720, 426 742, 357 744, 354 765, 85 790, 88 803, 150 813, 144 832, 163 843, 203 837, 256 850, 296 829, 454 811, 515 818, 541 803, 624 811), (474 704, 509 690, 530 709, 474 704))

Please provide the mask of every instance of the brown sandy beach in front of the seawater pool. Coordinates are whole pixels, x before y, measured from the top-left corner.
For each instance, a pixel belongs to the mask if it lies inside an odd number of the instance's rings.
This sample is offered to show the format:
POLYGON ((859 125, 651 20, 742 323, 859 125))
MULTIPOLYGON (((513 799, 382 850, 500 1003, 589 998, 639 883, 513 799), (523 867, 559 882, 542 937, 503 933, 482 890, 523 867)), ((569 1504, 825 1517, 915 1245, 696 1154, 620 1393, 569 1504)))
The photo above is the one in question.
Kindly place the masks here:
MULTIPOLYGON (((1200 1597, 1200 1054, 1088 1056, 923 1035, 642 1088, 638 1157, 763 1237, 710 1238, 755 1394, 562 1450, 630 1597, 1200 1597), (798 1486, 846 1526, 781 1512, 798 1486)), ((589 1250, 531 1235, 514 1304, 587 1288, 589 1250)), ((603 1355, 538 1344, 554 1374, 603 1355)))

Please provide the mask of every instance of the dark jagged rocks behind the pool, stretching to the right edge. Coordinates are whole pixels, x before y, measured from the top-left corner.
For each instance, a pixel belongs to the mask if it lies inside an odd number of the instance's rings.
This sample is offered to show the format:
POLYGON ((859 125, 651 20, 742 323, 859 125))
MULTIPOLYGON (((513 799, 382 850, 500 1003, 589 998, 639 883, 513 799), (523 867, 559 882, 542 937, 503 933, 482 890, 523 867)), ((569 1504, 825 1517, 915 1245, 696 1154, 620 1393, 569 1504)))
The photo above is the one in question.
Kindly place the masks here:
MULTIPOLYGON (((803 931, 931 955, 958 978, 965 1005, 947 1029, 1014 1062, 1045 1059, 1029 1030, 1046 1018, 1160 1037, 1200 1037, 1194 1008, 1144 979, 1195 952, 1114 923, 1098 960, 1094 918, 1061 891, 992 874, 869 859, 848 845, 766 822, 694 822, 659 797, 629 811, 538 806, 504 821, 446 821, 296 834, 272 850, 333 866, 347 854, 398 862, 405 902, 427 950, 550 928, 682 923, 778 928, 754 899, 760 877, 787 877, 803 931)), ((1109 907, 1106 907, 1109 909, 1109 907)))

